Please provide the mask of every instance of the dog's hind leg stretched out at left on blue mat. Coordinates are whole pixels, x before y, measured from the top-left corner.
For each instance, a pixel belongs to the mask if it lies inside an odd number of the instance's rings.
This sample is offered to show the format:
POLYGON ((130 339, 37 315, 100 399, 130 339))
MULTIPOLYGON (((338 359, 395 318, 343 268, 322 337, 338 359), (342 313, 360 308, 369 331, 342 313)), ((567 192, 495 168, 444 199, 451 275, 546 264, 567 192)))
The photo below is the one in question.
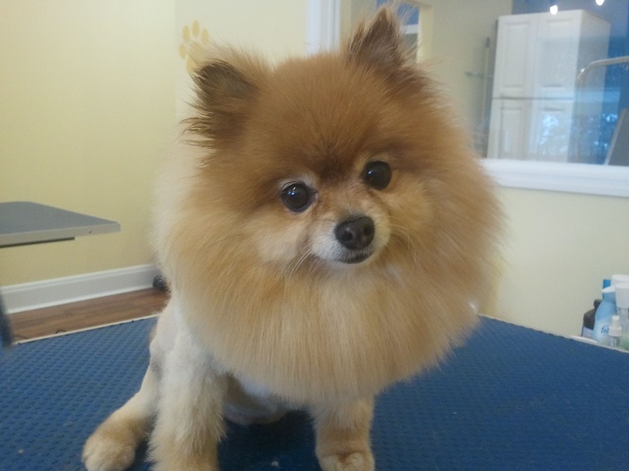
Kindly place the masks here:
POLYGON ((154 368, 149 365, 136 395, 87 439, 83 462, 88 471, 122 471, 133 464, 137 446, 146 440, 155 414, 157 381, 154 368))

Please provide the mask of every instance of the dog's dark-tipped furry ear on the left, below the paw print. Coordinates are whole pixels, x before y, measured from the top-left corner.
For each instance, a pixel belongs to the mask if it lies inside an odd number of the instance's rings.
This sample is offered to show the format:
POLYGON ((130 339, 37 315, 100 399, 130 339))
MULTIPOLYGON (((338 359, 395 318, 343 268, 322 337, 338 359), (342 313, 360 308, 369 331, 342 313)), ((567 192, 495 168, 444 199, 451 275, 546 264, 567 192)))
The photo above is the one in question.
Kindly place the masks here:
POLYGON ((186 119, 187 131, 209 144, 231 142, 243 131, 258 86, 246 64, 212 60, 192 74, 197 114, 186 119))

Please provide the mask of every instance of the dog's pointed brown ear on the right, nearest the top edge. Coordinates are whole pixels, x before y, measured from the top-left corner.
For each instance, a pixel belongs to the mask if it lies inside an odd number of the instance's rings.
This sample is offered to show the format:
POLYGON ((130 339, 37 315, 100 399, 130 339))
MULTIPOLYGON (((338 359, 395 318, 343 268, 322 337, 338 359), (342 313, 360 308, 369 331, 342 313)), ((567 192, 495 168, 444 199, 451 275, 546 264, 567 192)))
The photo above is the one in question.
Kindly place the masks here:
POLYGON ((346 46, 350 61, 391 71, 404 65, 407 51, 403 46, 400 23, 387 7, 380 8, 371 22, 361 22, 346 46))

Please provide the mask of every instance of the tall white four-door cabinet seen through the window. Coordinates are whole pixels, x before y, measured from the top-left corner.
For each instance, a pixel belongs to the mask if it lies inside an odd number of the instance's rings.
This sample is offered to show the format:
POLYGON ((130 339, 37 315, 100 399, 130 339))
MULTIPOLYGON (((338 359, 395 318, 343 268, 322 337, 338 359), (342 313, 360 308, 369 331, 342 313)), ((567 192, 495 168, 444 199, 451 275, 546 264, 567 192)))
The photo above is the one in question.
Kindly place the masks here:
MULTIPOLYGON (((577 75, 607 57, 608 39, 609 24, 584 10, 501 16, 487 156, 568 161, 577 75)), ((590 77, 579 107, 589 116, 600 114, 604 84, 602 69, 590 77)))

